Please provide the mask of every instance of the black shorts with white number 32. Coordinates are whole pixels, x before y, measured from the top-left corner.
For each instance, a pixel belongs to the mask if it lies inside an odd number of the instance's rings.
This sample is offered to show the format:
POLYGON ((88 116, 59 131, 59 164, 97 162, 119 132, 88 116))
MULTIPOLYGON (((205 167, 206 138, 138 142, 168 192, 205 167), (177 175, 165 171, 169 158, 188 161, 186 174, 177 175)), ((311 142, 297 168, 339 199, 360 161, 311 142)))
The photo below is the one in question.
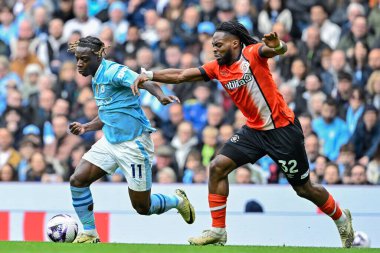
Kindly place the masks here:
POLYGON ((303 185, 309 180, 304 136, 297 118, 294 124, 267 131, 243 126, 219 153, 232 159, 238 167, 269 155, 291 185, 303 185))

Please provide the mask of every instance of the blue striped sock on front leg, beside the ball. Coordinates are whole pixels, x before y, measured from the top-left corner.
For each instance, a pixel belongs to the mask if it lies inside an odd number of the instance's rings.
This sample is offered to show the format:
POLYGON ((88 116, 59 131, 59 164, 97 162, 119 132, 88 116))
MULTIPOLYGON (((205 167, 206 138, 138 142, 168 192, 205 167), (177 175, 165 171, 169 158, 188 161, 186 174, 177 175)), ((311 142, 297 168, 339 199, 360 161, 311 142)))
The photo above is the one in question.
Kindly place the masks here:
POLYGON ((93 211, 93 201, 90 187, 78 188, 71 186, 71 196, 73 198, 73 206, 84 230, 95 229, 95 218, 93 211))

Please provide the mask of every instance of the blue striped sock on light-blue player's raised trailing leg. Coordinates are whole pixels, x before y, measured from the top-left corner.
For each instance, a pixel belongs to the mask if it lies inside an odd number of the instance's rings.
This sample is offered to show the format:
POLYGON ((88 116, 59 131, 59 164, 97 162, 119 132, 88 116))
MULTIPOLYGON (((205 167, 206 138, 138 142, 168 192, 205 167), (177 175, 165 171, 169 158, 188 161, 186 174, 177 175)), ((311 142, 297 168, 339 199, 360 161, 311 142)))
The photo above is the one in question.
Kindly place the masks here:
POLYGON ((175 195, 150 195, 150 209, 148 215, 162 214, 178 206, 179 200, 175 195))

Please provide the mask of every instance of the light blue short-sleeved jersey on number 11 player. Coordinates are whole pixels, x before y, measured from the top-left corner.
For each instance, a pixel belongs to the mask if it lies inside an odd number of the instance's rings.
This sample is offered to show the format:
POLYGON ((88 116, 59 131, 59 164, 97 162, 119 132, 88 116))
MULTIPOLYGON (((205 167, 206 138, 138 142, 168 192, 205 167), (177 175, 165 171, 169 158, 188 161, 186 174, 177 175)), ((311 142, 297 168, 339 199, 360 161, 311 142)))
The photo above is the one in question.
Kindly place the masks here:
POLYGON ((99 118, 108 142, 130 141, 143 132, 153 132, 130 86, 138 74, 128 67, 105 59, 92 78, 92 90, 99 107, 99 118))

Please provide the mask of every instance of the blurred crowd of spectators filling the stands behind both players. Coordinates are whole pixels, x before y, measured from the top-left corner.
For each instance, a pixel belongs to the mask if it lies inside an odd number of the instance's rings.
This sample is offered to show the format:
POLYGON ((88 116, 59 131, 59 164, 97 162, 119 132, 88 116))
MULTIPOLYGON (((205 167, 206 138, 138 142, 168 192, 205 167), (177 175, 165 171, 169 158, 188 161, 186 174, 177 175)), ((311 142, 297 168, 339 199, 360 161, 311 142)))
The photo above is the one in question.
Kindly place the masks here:
MULTIPOLYGON (((378 0, 2 0, 0 181, 67 181, 102 137, 68 133, 70 122, 97 115, 68 42, 97 36, 107 59, 136 72, 190 68, 213 60, 212 35, 231 19, 258 40, 275 31, 288 45, 268 63, 301 122, 311 180, 380 184, 378 0)), ((182 103, 162 106, 142 91, 157 129, 153 181, 207 183, 211 159, 246 119, 215 81, 162 89, 182 103)), ((229 180, 286 184, 280 171, 263 157, 229 180)), ((125 181, 118 171, 102 180, 125 181)))

